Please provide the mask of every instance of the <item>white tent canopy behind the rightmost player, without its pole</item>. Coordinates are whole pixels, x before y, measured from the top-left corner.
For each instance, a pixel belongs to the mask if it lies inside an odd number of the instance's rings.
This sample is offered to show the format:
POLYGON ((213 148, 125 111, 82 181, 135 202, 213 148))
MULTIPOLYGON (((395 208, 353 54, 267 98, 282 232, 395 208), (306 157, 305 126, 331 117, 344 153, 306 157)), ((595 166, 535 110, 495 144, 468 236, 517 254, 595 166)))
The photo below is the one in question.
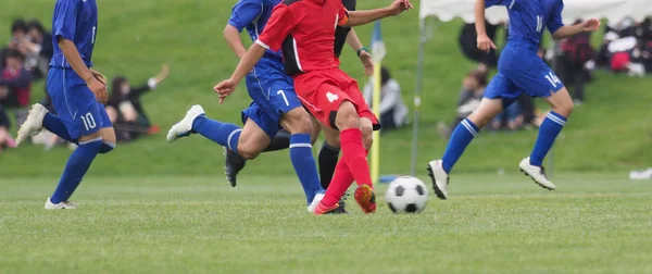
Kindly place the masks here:
MULTIPOLYGON (((531 0, 513 0, 531 1, 531 0)), ((423 0, 419 8, 419 18, 437 16, 443 22, 461 17, 466 23, 473 23, 475 0, 423 0)), ((616 22, 624 17, 640 21, 652 14, 650 0, 566 0, 562 16, 566 24, 577 18, 607 18, 616 22)), ((486 17, 492 24, 507 20, 505 7, 492 7, 486 12, 486 17)))

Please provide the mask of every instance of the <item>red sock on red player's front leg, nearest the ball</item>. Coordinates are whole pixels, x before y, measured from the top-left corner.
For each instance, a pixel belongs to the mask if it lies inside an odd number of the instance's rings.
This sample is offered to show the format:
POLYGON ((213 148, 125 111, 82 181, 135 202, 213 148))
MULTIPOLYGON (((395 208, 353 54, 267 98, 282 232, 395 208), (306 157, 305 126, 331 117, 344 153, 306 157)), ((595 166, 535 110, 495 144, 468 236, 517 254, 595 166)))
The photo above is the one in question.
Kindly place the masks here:
POLYGON ((369 163, 366 160, 366 150, 362 144, 362 132, 358 128, 349 128, 340 133, 340 145, 342 160, 347 162, 349 171, 358 185, 372 186, 369 163))

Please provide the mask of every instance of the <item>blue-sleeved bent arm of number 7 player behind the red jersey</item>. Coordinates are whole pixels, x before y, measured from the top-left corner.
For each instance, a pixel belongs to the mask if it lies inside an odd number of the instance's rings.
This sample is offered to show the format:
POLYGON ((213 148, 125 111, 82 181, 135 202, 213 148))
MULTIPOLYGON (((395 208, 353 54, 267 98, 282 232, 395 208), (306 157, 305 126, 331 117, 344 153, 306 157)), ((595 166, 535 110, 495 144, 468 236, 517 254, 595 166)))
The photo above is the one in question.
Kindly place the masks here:
POLYGON ((242 29, 246 26, 256 20, 261 14, 262 9, 260 0, 241 0, 234 7, 231 16, 224 27, 223 35, 226 39, 226 43, 228 43, 228 47, 239 59, 247 52, 247 49, 240 39, 240 33, 242 33, 242 29))

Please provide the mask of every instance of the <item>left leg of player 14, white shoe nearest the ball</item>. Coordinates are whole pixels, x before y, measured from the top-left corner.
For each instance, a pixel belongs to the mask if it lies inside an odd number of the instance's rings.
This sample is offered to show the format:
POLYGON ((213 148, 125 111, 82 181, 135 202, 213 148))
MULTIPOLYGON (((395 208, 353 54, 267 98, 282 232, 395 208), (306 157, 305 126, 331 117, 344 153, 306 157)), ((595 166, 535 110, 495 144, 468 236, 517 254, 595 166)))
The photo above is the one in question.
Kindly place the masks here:
POLYGON ((464 119, 451 134, 443 158, 428 163, 428 175, 432 180, 435 195, 439 199, 446 200, 448 198, 449 174, 466 147, 473 141, 480 128, 502 111, 504 103, 502 97, 505 95, 513 97, 509 94, 510 88, 509 80, 503 75, 500 73, 496 75, 487 86, 480 105, 468 117, 464 119))

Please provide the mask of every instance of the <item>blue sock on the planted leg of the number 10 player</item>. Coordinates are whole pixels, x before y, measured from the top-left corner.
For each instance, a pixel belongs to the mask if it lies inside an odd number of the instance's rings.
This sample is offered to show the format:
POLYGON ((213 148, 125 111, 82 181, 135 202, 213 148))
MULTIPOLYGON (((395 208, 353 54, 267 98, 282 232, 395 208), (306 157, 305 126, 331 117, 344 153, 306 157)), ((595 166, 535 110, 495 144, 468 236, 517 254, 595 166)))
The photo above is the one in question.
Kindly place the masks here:
POLYGON ((84 175, 90 167, 92 160, 100 152, 101 147, 101 138, 79 142, 79 147, 71 154, 65 164, 59 186, 57 186, 54 194, 50 197, 52 203, 67 201, 71 198, 77 186, 79 186, 79 183, 82 183, 82 178, 84 178, 84 175))

